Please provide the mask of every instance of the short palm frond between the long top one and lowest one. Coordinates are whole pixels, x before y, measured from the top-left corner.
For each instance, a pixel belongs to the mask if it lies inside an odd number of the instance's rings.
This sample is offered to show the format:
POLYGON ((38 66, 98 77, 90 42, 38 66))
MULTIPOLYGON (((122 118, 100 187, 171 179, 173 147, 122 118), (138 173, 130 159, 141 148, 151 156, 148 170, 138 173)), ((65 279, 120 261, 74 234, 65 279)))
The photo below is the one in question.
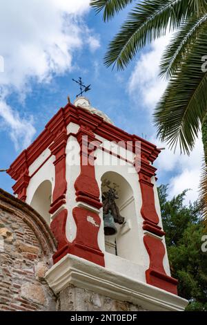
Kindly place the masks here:
POLYGON ((166 79, 177 73, 184 57, 194 46, 198 33, 202 32, 201 26, 207 21, 207 14, 201 17, 193 17, 186 24, 183 24, 175 34, 172 35, 170 44, 166 47, 161 58, 160 77, 166 79))

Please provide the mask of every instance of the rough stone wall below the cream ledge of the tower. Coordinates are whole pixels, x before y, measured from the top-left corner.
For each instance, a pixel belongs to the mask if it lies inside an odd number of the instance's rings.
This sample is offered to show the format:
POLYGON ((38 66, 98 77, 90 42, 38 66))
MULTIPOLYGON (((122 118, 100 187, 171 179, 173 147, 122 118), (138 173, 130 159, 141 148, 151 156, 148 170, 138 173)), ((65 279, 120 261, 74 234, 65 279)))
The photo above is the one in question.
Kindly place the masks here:
POLYGON ((65 311, 144 311, 141 306, 117 301, 90 290, 68 286, 59 293, 57 310, 65 311))

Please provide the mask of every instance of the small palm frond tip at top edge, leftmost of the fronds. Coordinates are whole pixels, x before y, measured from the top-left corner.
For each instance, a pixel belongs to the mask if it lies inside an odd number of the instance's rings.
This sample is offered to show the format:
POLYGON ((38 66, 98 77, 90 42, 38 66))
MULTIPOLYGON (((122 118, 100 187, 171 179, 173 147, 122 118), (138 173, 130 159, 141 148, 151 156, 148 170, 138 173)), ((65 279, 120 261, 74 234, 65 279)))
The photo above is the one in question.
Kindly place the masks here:
POLYGON ((95 8, 97 13, 103 10, 103 21, 112 19, 116 13, 123 10, 128 4, 135 0, 91 0, 90 6, 95 8))

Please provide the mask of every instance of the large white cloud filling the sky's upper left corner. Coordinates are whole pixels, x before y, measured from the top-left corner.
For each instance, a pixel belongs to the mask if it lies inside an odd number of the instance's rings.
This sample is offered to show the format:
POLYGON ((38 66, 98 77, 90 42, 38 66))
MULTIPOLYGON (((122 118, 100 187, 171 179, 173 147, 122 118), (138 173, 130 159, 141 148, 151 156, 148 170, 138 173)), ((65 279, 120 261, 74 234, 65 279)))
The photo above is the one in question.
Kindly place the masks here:
MULTIPOLYGON (((1 1, 0 55, 4 59, 4 73, 0 73, 0 94, 17 91, 23 98, 31 89, 31 82, 50 82, 54 74, 71 71, 75 52, 83 46, 95 51, 99 39, 88 29, 83 18, 90 0, 7 0, 1 1)), ((2 104, 3 105, 3 104, 2 104)), ((11 122, 17 112, 10 108, 10 122, 6 120, 9 106, 1 106, 0 118, 10 127, 17 147, 28 121, 11 122), (2 108, 7 107, 6 113, 2 108), (17 129, 19 128, 19 133, 17 129), (15 137, 14 137, 15 134, 15 137), (20 136, 21 134, 21 136, 20 136)), ((30 129, 30 128, 28 128, 30 129)), ((31 141, 32 133, 30 133, 31 141)), ((28 138, 26 143, 30 142, 28 138)), ((22 142, 22 141, 21 141, 22 142)), ((23 141, 23 145, 25 142, 23 141)))

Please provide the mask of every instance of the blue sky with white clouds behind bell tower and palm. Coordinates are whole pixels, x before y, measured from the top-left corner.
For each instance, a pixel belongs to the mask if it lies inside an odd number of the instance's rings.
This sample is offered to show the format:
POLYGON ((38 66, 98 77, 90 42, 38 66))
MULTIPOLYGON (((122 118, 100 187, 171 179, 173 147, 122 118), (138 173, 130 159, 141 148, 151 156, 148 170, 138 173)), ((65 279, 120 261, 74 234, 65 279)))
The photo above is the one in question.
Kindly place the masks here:
MULTIPOLYGON (((7 168, 34 140, 67 96, 75 100, 79 76, 92 84, 92 106, 104 111, 129 133, 157 142, 152 112, 166 82, 157 77, 159 59, 169 36, 145 48, 126 71, 103 66, 106 46, 127 10, 105 24, 88 0, 1 0, 0 169, 7 168)), ((186 203, 197 198, 201 141, 192 156, 168 149, 157 160, 160 183, 170 184, 170 196, 191 188, 186 203)), ((0 187, 12 192, 14 182, 0 173, 0 187)))

